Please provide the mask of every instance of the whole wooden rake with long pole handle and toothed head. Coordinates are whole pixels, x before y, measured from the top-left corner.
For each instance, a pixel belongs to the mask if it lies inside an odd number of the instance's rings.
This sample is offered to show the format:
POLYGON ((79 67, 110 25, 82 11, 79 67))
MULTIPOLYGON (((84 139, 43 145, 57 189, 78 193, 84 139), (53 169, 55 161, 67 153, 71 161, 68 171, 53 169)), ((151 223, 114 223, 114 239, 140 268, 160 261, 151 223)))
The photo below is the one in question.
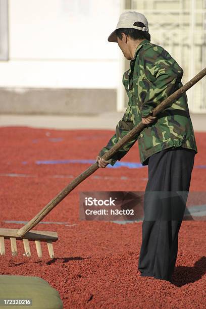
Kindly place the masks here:
MULTIPOLYGON (((184 92, 186 92, 189 88, 191 88, 194 84, 196 84, 201 78, 206 75, 206 68, 201 70, 197 75, 195 75, 190 81, 188 81, 184 86, 171 94, 168 98, 161 102, 155 109, 153 109, 150 114, 152 116, 157 116, 160 112, 162 112, 171 102, 180 97, 184 92)), ((132 139, 137 133, 141 132, 144 129, 145 125, 142 122, 134 127, 129 133, 127 133, 123 138, 121 138, 117 144, 115 144, 110 150, 108 150, 101 158, 105 160, 111 159, 115 153, 122 148, 130 139, 132 139)), ((31 251, 29 247, 29 240, 35 241, 36 250, 38 257, 42 257, 41 251, 41 241, 47 243, 48 252, 50 258, 54 258, 54 249, 53 242, 58 240, 58 235, 56 232, 44 232, 44 231, 32 231, 29 232, 32 228, 34 228, 50 211, 52 211, 56 205, 58 205, 78 184, 80 184, 83 180, 89 177, 98 169, 98 163, 95 162, 88 169, 86 169, 83 173, 78 175, 75 179, 73 179, 57 196, 55 196, 52 200, 49 201, 47 205, 27 224, 25 224, 21 229, 0 229, 0 253, 5 254, 5 239, 10 239, 12 255, 17 255, 17 244, 16 240, 22 240, 24 244, 25 256, 30 257, 31 251)))

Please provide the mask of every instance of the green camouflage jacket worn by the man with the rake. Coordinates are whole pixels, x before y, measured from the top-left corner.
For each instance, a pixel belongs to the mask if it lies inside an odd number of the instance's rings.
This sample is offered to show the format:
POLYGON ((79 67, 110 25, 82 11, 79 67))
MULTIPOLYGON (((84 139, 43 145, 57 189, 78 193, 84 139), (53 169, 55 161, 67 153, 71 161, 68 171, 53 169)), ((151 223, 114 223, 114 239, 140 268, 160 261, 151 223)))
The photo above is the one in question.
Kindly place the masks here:
MULTIPOLYGON (((116 133, 98 155, 104 155, 133 129, 142 117, 149 116, 153 108, 180 88, 182 75, 182 68, 163 47, 152 44, 147 39, 143 40, 137 46, 130 69, 123 75, 123 84, 129 97, 127 109, 117 124, 116 133)), ((147 159, 153 153, 169 147, 182 146, 194 149, 197 153, 186 93, 158 114, 155 122, 147 125, 134 139, 119 149, 112 157, 111 165, 121 160, 136 140, 142 165, 148 164, 147 159)))

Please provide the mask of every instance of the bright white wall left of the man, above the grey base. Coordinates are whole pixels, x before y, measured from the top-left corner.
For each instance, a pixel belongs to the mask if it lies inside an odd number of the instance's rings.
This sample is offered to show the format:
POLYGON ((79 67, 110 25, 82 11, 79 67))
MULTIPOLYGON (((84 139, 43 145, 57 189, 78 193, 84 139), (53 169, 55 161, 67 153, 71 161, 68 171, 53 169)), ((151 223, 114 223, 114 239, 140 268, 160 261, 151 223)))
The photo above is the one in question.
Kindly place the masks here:
POLYGON ((120 0, 10 0, 0 87, 117 88, 120 13, 120 0))

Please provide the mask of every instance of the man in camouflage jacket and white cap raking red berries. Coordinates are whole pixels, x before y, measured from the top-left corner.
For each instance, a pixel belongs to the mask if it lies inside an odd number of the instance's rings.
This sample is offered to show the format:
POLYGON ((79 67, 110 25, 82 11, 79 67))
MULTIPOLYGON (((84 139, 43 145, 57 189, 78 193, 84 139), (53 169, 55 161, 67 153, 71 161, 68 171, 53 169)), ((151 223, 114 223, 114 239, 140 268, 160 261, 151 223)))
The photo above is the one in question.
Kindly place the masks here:
MULTIPOLYGON (((183 70, 163 47, 150 43, 148 22, 140 13, 123 13, 108 41, 117 42, 124 57, 130 60, 130 69, 123 76, 129 102, 116 133, 96 157, 98 166, 114 165, 138 140, 141 163, 148 165, 145 193, 188 192, 197 147, 186 94, 156 117, 152 116, 152 110, 182 86, 183 70), (100 158, 140 121, 146 126, 134 139, 119 149, 112 159, 100 158)), ((150 215, 156 207, 157 202, 153 199, 144 201, 138 269, 141 276, 171 281, 182 217, 145 220, 145 214, 150 215)))

